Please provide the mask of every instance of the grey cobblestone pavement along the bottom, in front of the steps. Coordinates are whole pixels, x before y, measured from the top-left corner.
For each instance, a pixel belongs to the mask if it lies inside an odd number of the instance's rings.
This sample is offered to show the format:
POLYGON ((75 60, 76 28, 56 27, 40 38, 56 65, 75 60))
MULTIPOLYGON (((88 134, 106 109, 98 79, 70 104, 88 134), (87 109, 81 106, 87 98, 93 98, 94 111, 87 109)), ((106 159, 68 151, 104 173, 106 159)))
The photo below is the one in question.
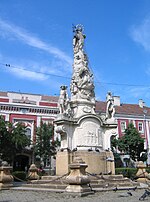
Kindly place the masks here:
MULTIPOLYGON (((144 191, 131 191, 132 196, 128 195, 127 191, 109 191, 79 197, 54 192, 0 190, 0 202, 137 202, 144 191)), ((150 201, 150 197, 145 201, 150 201)))

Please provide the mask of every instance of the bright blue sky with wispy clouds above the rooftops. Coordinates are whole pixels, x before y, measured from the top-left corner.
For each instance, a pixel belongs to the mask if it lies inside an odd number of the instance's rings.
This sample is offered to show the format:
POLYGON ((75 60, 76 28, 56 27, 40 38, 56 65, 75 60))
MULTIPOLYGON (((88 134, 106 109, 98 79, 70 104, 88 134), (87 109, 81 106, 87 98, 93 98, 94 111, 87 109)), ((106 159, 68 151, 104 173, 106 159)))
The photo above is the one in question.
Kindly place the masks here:
POLYGON ((95 93, 150 106, 149 0, 0 0, 0 90, 59 95, 82 24, 95 93), (10 64, 5 66, 5 64, 10 64))

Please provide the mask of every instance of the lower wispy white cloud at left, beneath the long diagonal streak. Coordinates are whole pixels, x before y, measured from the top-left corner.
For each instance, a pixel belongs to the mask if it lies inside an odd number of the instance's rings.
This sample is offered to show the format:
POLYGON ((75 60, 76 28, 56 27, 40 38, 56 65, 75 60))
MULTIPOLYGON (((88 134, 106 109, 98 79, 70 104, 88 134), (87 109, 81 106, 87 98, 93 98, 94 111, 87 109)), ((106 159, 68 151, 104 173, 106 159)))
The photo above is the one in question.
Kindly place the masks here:
POLYGON ((14 59, 7 58, 0 54, 1 70, 7 71, 7 73, 11 73, 16 77, 24 78, 28 80, 37 80, 37 81, 45 81, 50 77, 50 75, 61 75, 61 71, 59 71, 56 67, 47 65, 44 61, 36 62, 32 60, 22 60, 22 59, 14 59), (6 66, 6 61, 9 66, 6 66))

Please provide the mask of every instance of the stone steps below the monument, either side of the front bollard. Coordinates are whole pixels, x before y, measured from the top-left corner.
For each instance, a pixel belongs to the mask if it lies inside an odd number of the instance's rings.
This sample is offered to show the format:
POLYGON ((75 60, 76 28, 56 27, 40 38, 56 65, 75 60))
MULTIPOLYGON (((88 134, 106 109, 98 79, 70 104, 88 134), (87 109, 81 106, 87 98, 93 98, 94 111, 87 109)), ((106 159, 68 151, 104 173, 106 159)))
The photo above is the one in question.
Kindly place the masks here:
MULTIPOLYGON (((128 178, 123 178, 122 175, 111 176, 111 175, 99 175, 99 176, 90 176, 91 179, 90 187, 92 190, 113 190, 116 187, 135 187, 138 186, 135 182, 131 181, 128 178)), ((62 176, 43 176, 40 180, 32 180, 26 184, 22 184, 16 189, 22 190, 55 190, 55 191, 65 191, 67 187, 67 181, 65 177, 62 176)), ((17 186, 17 185, 16 185, 17 186)))

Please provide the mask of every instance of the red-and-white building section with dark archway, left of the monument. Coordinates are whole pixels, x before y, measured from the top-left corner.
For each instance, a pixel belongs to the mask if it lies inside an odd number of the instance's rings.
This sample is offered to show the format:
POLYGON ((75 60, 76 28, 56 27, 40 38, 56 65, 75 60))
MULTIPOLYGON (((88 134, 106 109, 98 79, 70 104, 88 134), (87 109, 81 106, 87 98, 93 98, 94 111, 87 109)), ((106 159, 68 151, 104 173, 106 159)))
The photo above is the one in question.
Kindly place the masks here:
MULTIPOLYGON (((26 135, 32 142, 36 139, 36 127, 41 121, 53 123, 59 113, 58 97, 28 93, 0 92, 0 115, 5 121, 14 125, 23 122, 26 126, 26 135)), ((14 167, 30 165, 33 162, 32 145, 23 154, 18 154, 14 167)))

